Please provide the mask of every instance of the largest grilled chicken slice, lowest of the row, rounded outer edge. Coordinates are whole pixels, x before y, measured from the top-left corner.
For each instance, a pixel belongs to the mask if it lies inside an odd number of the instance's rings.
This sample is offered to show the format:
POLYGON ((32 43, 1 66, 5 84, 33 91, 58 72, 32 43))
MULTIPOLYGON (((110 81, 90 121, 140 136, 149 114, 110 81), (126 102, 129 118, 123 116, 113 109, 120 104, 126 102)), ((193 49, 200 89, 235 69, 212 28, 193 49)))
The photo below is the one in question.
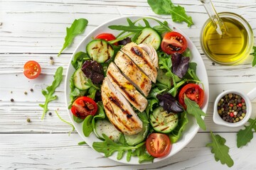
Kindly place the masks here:
POLYGON ((142 130, 142 120, 133 111, 129 102, 105 77, 101 87, 102 103, 110 122, 126 135, 134 135, 142 130))

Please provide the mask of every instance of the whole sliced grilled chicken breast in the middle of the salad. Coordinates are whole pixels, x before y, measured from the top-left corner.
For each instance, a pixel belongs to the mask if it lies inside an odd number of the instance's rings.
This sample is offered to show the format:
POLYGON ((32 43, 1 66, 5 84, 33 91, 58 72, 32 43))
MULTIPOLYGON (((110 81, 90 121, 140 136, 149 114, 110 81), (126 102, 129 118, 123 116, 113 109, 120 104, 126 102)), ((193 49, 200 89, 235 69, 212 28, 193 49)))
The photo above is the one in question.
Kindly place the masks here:
POLYGON ((156 82, 156 66, 158 63, 154 63, 147 52, 131 42, 117 52, 107 68, 101 87, 102 103, 107 118, 120 132, 134 135, 142 130, 142 120, 132 106, 140 112, 146 109, 144 96, 149 95, 151 81, 156 82))

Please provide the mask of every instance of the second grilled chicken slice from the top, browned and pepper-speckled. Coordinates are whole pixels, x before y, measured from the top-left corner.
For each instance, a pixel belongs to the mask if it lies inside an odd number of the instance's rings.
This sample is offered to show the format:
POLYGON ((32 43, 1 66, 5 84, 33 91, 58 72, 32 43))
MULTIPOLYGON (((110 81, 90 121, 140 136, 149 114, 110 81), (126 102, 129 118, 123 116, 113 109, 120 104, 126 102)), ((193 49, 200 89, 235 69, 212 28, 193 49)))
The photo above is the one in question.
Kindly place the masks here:
POLYGON ((117 64, 117 67, 119 67, 124 76, 137 87, 139 91, 142 91, 144 96, 149 95, 151 89, 149 77, 147 77, 127 55, 121 51, 117 52, 114 63, 117 64))

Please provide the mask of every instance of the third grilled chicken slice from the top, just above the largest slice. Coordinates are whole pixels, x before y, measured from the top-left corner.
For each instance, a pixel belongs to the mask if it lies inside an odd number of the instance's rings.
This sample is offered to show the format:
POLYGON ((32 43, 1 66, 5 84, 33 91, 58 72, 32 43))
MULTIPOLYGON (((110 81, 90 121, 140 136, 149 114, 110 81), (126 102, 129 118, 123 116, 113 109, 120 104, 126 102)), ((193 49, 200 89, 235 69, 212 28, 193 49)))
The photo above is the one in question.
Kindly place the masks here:
POLYGON ((107 77, 110 79, 114 88, 121 92, 140 112, 143 112, 147 105, 147 100, 135 87, 122 75, 114 62, 107 68, 107 77))

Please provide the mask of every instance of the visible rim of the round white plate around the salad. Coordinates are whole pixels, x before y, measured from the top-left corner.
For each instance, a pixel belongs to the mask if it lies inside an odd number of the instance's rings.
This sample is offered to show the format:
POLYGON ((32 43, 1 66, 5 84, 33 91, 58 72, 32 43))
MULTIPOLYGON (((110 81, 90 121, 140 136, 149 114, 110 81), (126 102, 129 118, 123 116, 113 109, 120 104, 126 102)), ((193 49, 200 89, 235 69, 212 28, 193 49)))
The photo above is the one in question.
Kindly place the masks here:
MULTIPOLYGON (((74 57, 75 53, 77 53, 77 52, 80 52, 80 51, 85 52, 85 47, 86 47, 87 43, 90 42, 90 40, 92 40, 93 37, 95 37, 96 35, 98 35, 100 33, 113 33, 114 35, 118 35, 120 33, 120 31, 110 30, 110 28, 108 28, 108 26, 112 26, 112 25, 127 26, 127 18, 130 18, 132 21, 135 21, 139 18, 144 18, 144 16, 125 16, 125 17, 121 17, 121 18, 115 18, 114 20, 108 21, 107 23, 103 23, 101 26, 98 26, 97 28, 95 28, 95 30, 92 30, 92 32, 89 33, 82 40, 82 42, 80 42, 80 44, 78 45, 78 47, 75 49, 75 51, 73 53, 73 57, 74 57)), ((151 24, 151 26, 159 25, 159 24, 155 23, 153 20, 148 20, 148 21, 151 24)), ((172 30, 179 32, 186 37, 186 40, 188 42, 188 48, 191 50, 191 62, 196 62, 198 64, 196 74, 198 75, 198 78, 201 79, 201 81, 204 84, 204 88, 205 88, 204 90, 205 90, 206 95, 205 95, 203 111, 206 112, 206 109, 208 106, 209 86, 208 86, 208 77, 207 77, 207 73, 206 73, 206 67, 203 64, 201 55, 198 52, 198 50, 196 49, 196 46, 193 45, 193 42, 181 30, 179 30, 178 28, 174 28, 173 26, 170 26, 170 25, 169 25, 169 27, 172 30)), ((71 64, 71 60, 73 60, 73 57, 71 57, 71 59, 70 59, 67 74, 65 77, 65 102, 66 102, 67 108, 70 104, 70 97, 69 97, 70 96, 70 77, 73 75, 73 72, 75 72, 75 69, 73 68, 73 66, 71 64)), ((78 134, 82 137, 82 140, 85 140, 87 145, 92 147, 93 142, 101 141, 94 135, 93 132, 91 133, 90 137, 85 137, 85 135, 83 135, 83 133, 82 133, 82 123, 76 123, 73 120, 73 117, 72 117, 73 115, 70 110, 68 110, 68 113, 70 115, 73 125, 75 125, 75 129, 78 131, 78 134)), ((174 145, 172 146, 171 153, 166 157, 154 159, 154 162, 160 162, 161 160, 164 160, 164 159, 167 159, 167 158, 173 156, 174 154, 179 152, 181 149, 183 149, 183 147, 185 147, 188 144, 188 142, 190 142, 193 139, 193 137, 198 132, 199 127, 194 118, 188 116, 188 119, 189 119, 189 123, 186 127, 186 130, 183 132, 181 139, 178 140, 178 142, 174 143, 174 145)), ((92 152, 96 152, 96 151, 92 150, 92 152)), ((138 162, 139 159, 137 157, 132 157, 130 162, 126 161, 125 156, 123 159, 117 160, 117 154, 113 154, 112 157, 109 157, 109 158, 114 161, 122 162, 125 164, 139 164, 139 162, 138 162)), ((151 164, 151 162, 148 162, 145 164, 151 164)))

